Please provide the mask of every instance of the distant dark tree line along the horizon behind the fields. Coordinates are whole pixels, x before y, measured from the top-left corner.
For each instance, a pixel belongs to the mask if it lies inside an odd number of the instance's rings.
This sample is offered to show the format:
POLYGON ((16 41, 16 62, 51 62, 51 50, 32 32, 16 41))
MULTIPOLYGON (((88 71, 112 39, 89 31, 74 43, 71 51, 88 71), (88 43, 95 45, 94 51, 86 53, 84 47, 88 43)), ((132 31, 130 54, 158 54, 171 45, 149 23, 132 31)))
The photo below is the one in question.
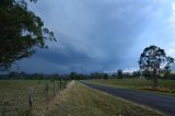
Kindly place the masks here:
MULTIPOLYGON (((117 70, 113 73, 104 73, 104 72, 92 72, 89 74, 70 72, 70 74, 44 74, 44 73, 26 73, 12 71, 8 74, 0 74, 0 80, 9 80, 9 79, 22 79, 22 80, 89 80, 89 79, 133 79, 133 78, 145 78, 148 80, 152 80, 151 76, 145 72, 141 72, 140 70, 133 72, 124 72, 121 69, 117 70)), ((159 76, 161 80, 175 80, 175 73, 165 73, 163 72, 159 76)))

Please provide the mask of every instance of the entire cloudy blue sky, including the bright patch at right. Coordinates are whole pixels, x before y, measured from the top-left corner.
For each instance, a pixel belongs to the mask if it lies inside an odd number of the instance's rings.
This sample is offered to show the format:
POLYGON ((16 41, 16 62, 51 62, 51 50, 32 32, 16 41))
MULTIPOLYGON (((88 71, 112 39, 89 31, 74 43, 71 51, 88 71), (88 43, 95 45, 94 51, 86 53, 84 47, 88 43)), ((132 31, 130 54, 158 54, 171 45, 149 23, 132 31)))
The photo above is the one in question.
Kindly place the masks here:
POLYGON ((55 33, 57 42, 47 42, 48 49, 18 61, 21 71, 133 71, 150 45, 175 57, 173 0, 38 0, 28 7, 55 33))

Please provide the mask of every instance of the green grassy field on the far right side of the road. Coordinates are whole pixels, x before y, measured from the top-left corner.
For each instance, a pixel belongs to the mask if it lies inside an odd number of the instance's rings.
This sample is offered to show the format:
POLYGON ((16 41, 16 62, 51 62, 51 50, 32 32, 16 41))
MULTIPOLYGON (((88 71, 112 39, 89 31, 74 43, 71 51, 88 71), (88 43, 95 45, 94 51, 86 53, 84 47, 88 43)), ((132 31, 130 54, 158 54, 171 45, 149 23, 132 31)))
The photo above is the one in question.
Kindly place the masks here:
MULTIPOLYGON (((152 89, 152 81, 145 79, 109 79, 109 80, 98 79, 98 80, 89 80, 89 82, 113 85, 118 88, 154 91, 152 89)), ((167 94, 175 96, 175 81, 159 80, 159 89, 155 92, 160 94, 167 94)))

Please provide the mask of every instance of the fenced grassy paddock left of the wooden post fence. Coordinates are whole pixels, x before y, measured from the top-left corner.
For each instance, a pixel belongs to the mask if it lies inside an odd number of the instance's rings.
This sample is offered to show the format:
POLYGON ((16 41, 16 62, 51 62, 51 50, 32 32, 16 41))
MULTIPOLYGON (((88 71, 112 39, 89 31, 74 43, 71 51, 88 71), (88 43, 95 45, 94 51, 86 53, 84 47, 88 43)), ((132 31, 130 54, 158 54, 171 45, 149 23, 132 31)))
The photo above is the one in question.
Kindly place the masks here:
POLYGON ((48 104, 61 88, 60 82, 40 80, 1 80, 0 81, 0 116, 28 116, 27 89, 33 88, 32 114, 43 116, 46 114, 48 104), (48 94, 46 94, 48 83, 48 94), (55 86, 55 88, 54 88, 55 86))

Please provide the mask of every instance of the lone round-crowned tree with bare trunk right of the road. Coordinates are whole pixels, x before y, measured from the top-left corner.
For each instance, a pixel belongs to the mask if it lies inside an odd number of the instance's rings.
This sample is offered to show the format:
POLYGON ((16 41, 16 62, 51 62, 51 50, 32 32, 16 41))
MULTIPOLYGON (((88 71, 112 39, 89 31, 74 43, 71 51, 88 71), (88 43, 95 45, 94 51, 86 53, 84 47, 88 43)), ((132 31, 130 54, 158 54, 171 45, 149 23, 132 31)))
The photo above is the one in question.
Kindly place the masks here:
POLYGON ((167 57, 164 49, 153 45, 144 48, 139 60, 140 71, 150 76, 154 89, 158 89, 161 68, 171 70, 173 63, 174 58, 167 57))

